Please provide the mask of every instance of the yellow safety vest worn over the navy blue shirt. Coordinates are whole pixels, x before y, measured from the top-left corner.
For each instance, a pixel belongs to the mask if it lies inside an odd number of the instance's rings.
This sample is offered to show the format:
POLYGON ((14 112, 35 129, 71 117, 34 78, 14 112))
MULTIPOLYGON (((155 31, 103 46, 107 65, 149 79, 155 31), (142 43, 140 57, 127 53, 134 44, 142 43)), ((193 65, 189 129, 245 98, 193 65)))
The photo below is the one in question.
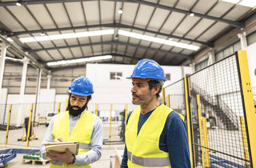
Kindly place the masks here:
MULTIPOLYGON (((133 110, 125 131, 129 168, 170 168, 169 153, 159 149, 159 139, 168 114, 173 110, 163 104, 157 107, 138 133, 140 107, 133 110), (138 133, 138 135, 137 135, 138 133)), ((184 121, 184 117, 180 114, 184 121)))

